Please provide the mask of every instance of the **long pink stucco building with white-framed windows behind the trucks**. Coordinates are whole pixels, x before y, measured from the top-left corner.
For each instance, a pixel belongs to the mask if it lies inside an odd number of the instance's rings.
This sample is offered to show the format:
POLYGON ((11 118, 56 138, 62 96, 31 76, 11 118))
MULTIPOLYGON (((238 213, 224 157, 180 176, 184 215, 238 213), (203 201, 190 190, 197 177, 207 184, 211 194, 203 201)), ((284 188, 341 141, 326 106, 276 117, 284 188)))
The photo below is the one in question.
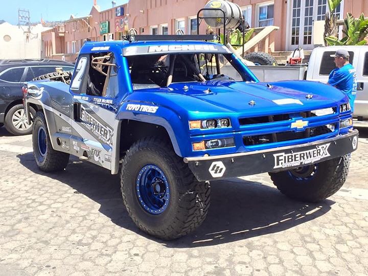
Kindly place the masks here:
MULTIPOLYGON (((139 34, 196 33, 196 15, 209 0, 130 0, 119 7, 100 11, 97 1, 89 15, 65 21, 63 26, 42 33, 44 56, 77 53, 86 39, 121 39, 129 29, 139 34)), ((269 50, 293 50, 298 45, 313 49, 314 21, 324 20, 327 0, 231 0, 238 4, 251 27, 279 26, 272 33, 269 50)), ((91 3, 92 4, 92 3, 91 3)), ((350 12, 368 14, 367 0, 342 0, 340 18, 350 12)), ((205 32, 204 22, 200 32, 205 32)))

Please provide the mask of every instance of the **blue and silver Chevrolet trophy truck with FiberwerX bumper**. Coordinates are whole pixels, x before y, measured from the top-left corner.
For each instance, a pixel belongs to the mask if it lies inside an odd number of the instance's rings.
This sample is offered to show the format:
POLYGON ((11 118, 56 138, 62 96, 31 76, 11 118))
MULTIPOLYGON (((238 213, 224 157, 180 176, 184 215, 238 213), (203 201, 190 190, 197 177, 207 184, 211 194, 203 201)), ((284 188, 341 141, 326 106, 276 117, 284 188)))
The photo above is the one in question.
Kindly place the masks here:
POLYGON ((311 202, 341 188, 358 143, 346 95, 261 83, 211 35, 155 39, 86 42, 70 85, 26 84, 40 170, 64 170, 72 154, 120 173, 129 216, 166 240, 203 222, 211 180, 268 172, 283 194, 311 202))

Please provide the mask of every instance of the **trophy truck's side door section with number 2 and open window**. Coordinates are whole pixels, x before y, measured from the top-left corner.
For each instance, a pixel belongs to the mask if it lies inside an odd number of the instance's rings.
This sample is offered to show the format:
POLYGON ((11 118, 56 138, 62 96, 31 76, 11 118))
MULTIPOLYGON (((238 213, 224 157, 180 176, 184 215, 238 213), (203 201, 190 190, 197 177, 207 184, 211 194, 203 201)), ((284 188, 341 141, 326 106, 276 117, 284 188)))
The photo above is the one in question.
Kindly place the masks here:
POLYGON ((118 128, 119 91, 113 53, 80 55, 70 91, 73 95, 71 153, 111 169, 111 156, 118 148, 114 129, 118 128))

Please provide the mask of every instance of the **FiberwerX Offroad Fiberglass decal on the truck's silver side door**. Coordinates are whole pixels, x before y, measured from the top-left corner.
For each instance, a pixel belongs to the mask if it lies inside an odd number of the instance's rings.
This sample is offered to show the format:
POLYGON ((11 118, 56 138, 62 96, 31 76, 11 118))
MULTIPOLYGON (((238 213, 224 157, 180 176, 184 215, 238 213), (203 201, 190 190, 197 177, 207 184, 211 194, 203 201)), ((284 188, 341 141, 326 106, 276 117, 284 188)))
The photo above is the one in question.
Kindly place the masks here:
POLYGON ((112 128, 104 125, 93 116, 91 116, 91 114, 89 114, 83 106, 81 106, 80 119, 82 121, 81 124, 90 132, 92 132, 97 137, 97 139, 112 147, 112 128))

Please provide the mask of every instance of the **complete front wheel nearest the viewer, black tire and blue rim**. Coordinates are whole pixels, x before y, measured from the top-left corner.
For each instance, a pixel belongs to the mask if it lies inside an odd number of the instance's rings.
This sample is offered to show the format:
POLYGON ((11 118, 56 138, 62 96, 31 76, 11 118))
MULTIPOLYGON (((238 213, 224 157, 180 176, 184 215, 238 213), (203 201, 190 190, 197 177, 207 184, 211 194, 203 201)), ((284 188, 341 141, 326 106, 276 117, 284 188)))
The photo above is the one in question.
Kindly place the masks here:
POLYGON ((129 216, 144 232, 165 240, 192 232, 210 206, 209 183, 198 182, 168 145, 156 137, 137 141, 121 170, 129 216))

